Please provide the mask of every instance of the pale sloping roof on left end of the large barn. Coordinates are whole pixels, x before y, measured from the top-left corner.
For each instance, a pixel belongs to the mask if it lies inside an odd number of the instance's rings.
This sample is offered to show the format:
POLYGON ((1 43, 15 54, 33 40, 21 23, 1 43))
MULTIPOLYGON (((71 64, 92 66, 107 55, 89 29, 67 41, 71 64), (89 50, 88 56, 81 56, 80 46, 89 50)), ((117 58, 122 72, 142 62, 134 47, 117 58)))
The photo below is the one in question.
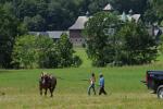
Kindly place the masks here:
POLYGON ((71 26, 68 29, 84 29, 85 23, 88 21, 88 16, 78 16, 75 24, 71 26))

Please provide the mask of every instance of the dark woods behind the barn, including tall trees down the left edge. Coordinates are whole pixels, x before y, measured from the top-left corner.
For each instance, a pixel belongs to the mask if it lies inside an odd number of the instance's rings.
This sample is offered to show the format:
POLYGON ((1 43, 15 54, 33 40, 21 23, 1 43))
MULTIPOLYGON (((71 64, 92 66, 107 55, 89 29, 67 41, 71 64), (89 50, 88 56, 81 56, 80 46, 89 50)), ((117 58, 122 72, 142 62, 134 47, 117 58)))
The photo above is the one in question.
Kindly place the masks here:
POLYGON ((133 9, 142 22, 163 25, 162 0, 0 0, 0 66, 13 68, 12 52, 18 36, 29 31, 67 29, 78 15, 101 11, 108 3, 115 13, 133 9))

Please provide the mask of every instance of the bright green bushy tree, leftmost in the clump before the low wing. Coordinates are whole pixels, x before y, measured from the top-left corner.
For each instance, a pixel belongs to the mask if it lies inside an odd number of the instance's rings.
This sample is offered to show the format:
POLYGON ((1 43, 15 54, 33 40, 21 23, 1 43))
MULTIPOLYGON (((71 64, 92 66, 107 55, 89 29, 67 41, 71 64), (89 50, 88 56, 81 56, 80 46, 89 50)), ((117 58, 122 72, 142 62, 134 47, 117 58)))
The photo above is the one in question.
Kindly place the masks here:
POLYGON ((35 36, 20 36, 15 39, 12 53, 14 68, 38 68, 38 58, 35 36))

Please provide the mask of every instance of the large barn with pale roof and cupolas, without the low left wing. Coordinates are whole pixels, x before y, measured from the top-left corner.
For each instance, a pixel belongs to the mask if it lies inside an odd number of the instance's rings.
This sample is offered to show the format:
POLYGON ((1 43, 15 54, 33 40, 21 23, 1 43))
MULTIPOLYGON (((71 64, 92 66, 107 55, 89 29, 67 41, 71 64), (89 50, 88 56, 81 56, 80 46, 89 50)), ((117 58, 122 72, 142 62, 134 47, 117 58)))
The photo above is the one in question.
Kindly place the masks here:
MULTIPOLYGON (((103 11, 112 12, 113 7, 109 3, 103 8, 103 11)), ((91 16, 78 16, 76 22, 68 28, 70 40, 73 43, 74 46, 82 46, 83 44, 85 44, 85 36, 83 35, 83 31, 85 28, 85 23, 89 20, 89 17, 91 16)), ((130 10, 129 14, 123 12, 123 14, 120 15, 120 19, 124 22, 127 20, 135 20, 136 22, 138 22, 140 20, 140 14, 133 14, 133 11, 130 10)))

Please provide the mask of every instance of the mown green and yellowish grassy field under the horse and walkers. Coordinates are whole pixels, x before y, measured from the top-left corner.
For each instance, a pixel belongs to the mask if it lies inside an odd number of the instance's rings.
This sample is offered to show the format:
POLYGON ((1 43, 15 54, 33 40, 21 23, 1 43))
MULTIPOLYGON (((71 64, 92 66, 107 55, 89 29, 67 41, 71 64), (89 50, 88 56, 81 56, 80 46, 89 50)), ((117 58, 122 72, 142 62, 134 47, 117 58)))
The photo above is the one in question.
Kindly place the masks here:
MULTIPOLYGON (((0 70, 0 109, 162 109, 163 101, 140 83, 147 70, 163 70, 163 63, 103 69, 87 64, 78 69, 0 70), (58 80, 53 98, 39 95, 41 71, 64 78, 58 80), (89 83, 82 80, 88 78, 91 72, 97 80, 99 73, 103 73, 109 95, 87 95, 89 83)), ((98 92, 98 86, 96 88, 98 92)))

